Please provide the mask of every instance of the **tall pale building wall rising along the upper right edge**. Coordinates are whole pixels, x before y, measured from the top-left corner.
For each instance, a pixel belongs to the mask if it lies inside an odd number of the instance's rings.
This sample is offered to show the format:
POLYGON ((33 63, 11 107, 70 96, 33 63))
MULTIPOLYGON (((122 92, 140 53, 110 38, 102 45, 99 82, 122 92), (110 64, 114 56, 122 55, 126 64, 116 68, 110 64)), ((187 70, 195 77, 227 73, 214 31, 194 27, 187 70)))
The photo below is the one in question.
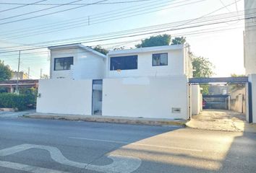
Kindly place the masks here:
MULTIPOLYGON (((256 8, 256 1, 244 0, 245 18, 256 17, 252 11, 256 8)), ((246 74, 256 74, 256 19, 245 20, 244 30, 244 68, 246 74)))

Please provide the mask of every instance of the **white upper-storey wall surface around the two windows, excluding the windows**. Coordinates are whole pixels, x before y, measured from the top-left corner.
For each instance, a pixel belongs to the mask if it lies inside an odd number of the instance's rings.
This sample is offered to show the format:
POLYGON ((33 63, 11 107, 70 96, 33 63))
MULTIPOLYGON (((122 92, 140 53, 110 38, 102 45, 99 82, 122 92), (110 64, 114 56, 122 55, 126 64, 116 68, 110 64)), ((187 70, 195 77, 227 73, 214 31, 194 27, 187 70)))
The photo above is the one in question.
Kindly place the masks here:
MULTIPOLYGON (((161 47, 161 46, 159 46, 161 47)), ((159 48, 158 47, 158 48, 159 48)), ((154 47, 152 47, 153 49, 154 47)), ((119 50, 108 55, 106 63, 106 77, 107 78, 122 78, 122 77, 142 77, 142 76, 174 76, 187 75, 187 52, 184 48, 174 50, 148 50, 147 52, 126 53, 127 50, 119 50), (168 66, 153 66, 153 53, 168 53, 168 66), (110 58, 115 56, 135 56, 137 55, 137 69, 110 71, 110 58)), ((129 50, 128 50, 129 52, 129 50)))

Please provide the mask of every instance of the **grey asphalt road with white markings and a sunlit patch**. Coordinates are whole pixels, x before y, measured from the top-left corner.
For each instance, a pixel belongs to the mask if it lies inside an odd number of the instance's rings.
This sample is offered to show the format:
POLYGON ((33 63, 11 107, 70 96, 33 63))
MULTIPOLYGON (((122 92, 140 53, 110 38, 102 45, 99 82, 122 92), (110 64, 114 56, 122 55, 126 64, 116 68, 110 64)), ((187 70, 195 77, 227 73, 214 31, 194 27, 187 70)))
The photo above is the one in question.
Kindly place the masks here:
POLYGON ((0 118, 0 172, 256 172, 256 134, 0 118))

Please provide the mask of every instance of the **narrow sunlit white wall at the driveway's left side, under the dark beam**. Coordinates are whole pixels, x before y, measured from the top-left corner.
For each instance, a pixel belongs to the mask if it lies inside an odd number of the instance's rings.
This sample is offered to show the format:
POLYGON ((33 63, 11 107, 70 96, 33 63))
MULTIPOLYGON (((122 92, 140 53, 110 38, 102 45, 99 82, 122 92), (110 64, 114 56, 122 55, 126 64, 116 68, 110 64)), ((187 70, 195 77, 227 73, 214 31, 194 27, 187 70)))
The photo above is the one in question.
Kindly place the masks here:
POLYGON ((192 85, 192 115, 198 115, 201 110, 201 93, 199 85, 192 85))

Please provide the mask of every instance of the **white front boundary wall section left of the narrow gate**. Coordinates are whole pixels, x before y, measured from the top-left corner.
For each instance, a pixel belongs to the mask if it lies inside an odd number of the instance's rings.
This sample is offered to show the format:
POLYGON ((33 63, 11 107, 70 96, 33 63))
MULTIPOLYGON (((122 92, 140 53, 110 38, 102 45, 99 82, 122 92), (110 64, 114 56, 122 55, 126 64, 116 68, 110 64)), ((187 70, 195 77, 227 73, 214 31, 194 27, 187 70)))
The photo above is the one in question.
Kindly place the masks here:
POLYGON ((91 115, 92 80, 39 80, 37 112, 91 115))

